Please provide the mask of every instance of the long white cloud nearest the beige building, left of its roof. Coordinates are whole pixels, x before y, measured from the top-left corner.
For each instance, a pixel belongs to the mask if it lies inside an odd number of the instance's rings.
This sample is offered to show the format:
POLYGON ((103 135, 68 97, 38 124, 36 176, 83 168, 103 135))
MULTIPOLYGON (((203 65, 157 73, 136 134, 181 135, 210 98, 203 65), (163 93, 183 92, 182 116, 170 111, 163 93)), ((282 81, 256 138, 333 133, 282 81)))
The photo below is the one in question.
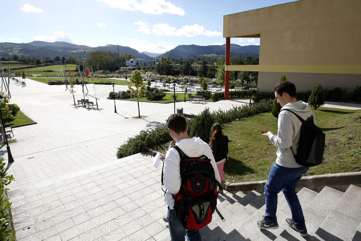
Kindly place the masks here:
POLYGON ((134 22, 134 25, 139 25, 135 31, 141 32, 143 34, 156 34, 156 35, 166 35, 166 36, 186 36, 186 37, 194 37, 197 35, 205 35, 208 37, 211 36, 220 36, 222 35, 218 31, 210 31, 206 30, 203 26, 199 26, 198 24, 193 24, 192 26, 185 25, 180 29, 175 27, 171 27, 166 23, 156 23, 152 27, 150 27, 147 23, 138 21, 134 22))

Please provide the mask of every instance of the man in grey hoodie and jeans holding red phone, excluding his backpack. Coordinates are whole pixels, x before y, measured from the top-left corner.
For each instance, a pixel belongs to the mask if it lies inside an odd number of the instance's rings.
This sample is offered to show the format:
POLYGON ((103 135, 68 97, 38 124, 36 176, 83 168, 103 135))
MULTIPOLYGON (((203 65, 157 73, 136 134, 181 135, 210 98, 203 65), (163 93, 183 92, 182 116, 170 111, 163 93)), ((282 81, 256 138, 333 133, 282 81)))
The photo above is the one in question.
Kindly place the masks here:
POLYGON ((286 223, 295 229, 301 236, 307 236, 305 219, 300 201, 295 188, 301 176, 306 173, 309 167, 296 163, 294 155, 297 154, 299 146, 301 121, 291 112, 282 111, 289 109, 295 112, 304 120, 313 115, 310 107, 299 100, 296 100, 296 86, 289 82, 279 82, 274 88, 277 102, 282 106, 278 116, 278 133, 271 132, 262 134, 277 147, 277 159, 271 167, 268 180, 265 185, 266 212, 264 218, 257 222, 262 229, 276 229, 277 223, 277 194, 283 191, 284 197, 290 206, 292 219, 286 219, 286 223))

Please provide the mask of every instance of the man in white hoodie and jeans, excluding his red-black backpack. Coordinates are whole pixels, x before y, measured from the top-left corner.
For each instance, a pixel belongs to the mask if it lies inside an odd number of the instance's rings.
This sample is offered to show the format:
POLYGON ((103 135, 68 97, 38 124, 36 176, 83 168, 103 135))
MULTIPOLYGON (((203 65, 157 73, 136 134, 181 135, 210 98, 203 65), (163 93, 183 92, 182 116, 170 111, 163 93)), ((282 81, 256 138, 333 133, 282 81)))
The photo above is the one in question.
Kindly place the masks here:
MULTIPOLYGON (((209 145, 202 141, 199 137, 190 138, 187 134, 188 125, 186 118, 180 114, 172 114, 169 116, 166 126, 170 136, 174 139, 170 143, 171 146, 177 145, 187 156, 199 157, 207 156, 211 159, 214 174, 217 181, 220 181, 216 162, 214 160, 212 150, 209 145)), ((177 194, 181 188, 181 173, 179 169, 178 151, 175 148, 169 148, 164 159, 164 186, 167 191, 164 202, 168 205, 168 224, 171 241, 184 241, 186 235, 188 241, 200 241, 201 236, 199 230, 188 230, 183 228, 182 224, 177 220, 174 211, 174 199, 172 194, 177 194)))

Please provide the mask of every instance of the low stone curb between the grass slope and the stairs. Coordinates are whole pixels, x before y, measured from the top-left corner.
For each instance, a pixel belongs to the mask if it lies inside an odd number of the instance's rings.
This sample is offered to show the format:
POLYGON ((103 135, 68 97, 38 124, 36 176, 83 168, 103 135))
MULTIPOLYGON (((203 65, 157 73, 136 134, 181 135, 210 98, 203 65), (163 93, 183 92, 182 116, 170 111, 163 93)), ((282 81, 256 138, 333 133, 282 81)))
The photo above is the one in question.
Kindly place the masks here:
MULTIPOLYGON (((231 192, 243 191, 244 193, 249 193, 250 191, 255 190, 259 193, 263 193, 266 181, 267 180, 239 183, 227 182, 225 189, 231 192)), ((325 186, 329 186, 330 188, 344 192, 350 184, 361 186, 361 172, 347 172, 301 177, 301 180, 296 186, 296 191, 299 191, 305 187, 319 192, 325 186)))

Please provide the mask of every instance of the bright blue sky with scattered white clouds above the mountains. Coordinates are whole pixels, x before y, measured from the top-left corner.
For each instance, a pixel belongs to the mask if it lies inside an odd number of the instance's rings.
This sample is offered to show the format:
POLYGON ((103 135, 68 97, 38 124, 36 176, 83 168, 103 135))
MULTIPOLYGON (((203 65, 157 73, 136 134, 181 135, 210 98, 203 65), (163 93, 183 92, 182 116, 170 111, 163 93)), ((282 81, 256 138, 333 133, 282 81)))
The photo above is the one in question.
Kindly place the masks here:
MULTIPOLYGON (((224 15, 288 2, 292 0, 4 1, 0 42, 119 44, 164 53, 181 44, 225 44, 224 15)), ((260 39, 231 38, 231 43, 259 45, 260 39)))

